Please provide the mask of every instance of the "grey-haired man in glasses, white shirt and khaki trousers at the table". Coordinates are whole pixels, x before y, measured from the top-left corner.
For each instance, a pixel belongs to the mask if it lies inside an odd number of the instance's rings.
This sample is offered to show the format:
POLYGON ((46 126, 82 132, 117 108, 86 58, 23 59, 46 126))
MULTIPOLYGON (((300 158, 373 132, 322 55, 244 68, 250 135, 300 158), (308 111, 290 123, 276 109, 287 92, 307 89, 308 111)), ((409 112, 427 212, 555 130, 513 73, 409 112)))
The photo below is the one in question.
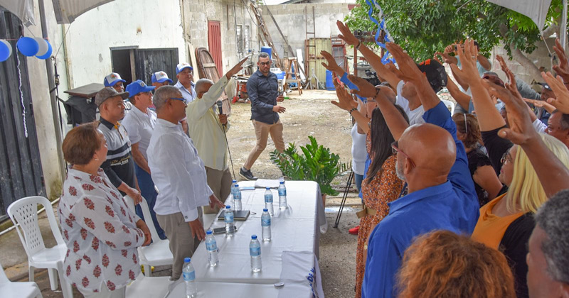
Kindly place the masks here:
POLYGON ((191 257, 206 236, 201 206, 224 205, 208 187, 198 150, 182 131, 180 120, 186 117, 186 99, 180 90, 161 87, 153 101, 158 118, 147 155, 152 180, 159 190, 154 211, 174 255, 171 278, 178 280, 184 258, 191 257))

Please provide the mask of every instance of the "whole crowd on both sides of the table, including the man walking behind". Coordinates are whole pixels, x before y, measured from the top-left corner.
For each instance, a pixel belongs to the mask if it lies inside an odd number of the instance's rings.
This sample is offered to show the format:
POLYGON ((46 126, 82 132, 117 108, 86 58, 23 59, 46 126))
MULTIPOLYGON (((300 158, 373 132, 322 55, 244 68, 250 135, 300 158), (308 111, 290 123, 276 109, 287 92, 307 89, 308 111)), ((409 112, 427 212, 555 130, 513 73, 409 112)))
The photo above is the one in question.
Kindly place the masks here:
MULTIPOLYGON (((561 45, 557 77, 543 73, 537 94, 499 56, 507 82, 490 72, 474 40, 420 63, 387 43, 397 66, 383 65, 337 25, 381 80, 373 86, 321 53, 337 77, 332 104, 354 119, 363 202, 355 297, 569 297, 569 62, 561 45), (454 115, 437 96, 443 87, 458 103, 454 115)), ((230 193, 230 123, 216 101, 245 60, 218 82, 194 84, 191 65, 180 63, 176 84, 158 71, 152 86, 137 80, 126 91, 112 73, 95 97, 100 119, 65 136, 65 278, 85 297, 124 297, 140 272, 137 247, 152 241, 142 209, 129 210, 123 196, 146 200, 159 237, 169 239, 171 279, 179 279, 205 238, 203 211, 223 208, 230 193)), ((257 66, 247 85, 257 142, 239 171, 246 180, 257 179, 251 167, 269 135, 285 149, 278 114, 286 109, 270 57, 259 55, 257 66)))

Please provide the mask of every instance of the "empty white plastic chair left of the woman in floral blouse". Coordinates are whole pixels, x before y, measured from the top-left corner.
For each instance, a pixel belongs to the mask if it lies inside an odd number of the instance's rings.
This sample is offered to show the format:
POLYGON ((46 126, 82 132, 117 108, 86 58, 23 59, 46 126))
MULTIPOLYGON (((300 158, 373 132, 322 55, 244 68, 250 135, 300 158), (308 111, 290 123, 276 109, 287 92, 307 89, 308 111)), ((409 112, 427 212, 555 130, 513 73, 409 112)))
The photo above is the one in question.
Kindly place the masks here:
POLYGON ((16 226, 18 236, 22 242, 23 249, 28 255, 28 269, 30 282, 33 282, 33 270, 35 268, 46 268, 49 275, 49 283, 51 290, 58 288, 58 279, 55 275, 57 270, 63 297, 73 297, 71 285, 63 278, 65 270, 63 270, 63 260, 67 253, 67 246, 63 241, 55 215, 51 209, 51 204, 45 197, 25 197, 8 206, 7 212, 10 219, 16 226), (38 204, 46 209, 51 233, 57 241, 57 245, 53 248, 46 248, 43 244, 40 226, 38 224, 38 204))

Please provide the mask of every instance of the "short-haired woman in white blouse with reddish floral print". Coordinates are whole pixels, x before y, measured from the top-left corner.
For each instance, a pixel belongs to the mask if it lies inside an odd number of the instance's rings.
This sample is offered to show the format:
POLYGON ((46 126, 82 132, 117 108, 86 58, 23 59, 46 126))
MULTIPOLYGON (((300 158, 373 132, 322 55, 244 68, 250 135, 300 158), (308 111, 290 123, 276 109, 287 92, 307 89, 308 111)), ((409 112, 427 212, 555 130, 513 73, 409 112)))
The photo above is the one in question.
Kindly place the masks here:
POLYGON ((150 243, 150 231, 100 169, 107 141, 95 123, 65 136, 63 157, 71 165, 58 207, 68 246, 65 278, 85 297, 124 297, 140 272, 137 247, 150 243))

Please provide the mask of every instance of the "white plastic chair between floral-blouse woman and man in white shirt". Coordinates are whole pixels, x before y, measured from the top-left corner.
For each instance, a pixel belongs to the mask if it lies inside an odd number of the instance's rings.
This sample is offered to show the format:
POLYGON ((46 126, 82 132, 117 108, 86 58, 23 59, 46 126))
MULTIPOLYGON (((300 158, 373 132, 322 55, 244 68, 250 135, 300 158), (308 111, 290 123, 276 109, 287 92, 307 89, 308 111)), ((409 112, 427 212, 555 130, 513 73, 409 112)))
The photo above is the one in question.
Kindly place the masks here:
MULTIPOLYGON (((129 209, 134 212, 134 201, 132 198, 125 196, 124 201, 127 202, 129 209)), ((140 258, 140 264, 144 266, 144 275, 150 277, 152 274, 151 266, 171 265, 174 262, 174 256, 170 251, 170 241, 168 239, 160 239, 158 232, 156 232, 156 228, 154 228, 154 222, 150 216, 150 210, 146 199, 142 199, 142 202, 140 202, 140 208, 144 215, 144 221, 147 223, 148 229, 150 230, 152 243, 148 246, 140 246, 138 248, 138 256, 140 258)))

